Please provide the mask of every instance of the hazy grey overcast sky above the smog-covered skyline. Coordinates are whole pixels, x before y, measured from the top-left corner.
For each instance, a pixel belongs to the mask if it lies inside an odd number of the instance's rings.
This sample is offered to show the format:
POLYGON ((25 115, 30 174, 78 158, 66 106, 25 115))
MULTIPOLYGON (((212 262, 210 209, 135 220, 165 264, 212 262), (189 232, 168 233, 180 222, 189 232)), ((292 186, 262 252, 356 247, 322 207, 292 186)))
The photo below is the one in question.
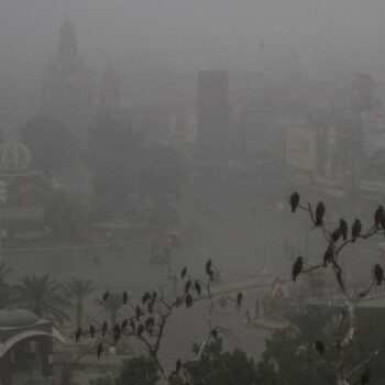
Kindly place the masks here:
POLYGON ((22 79, 41 68, 66 14, 80 53, 100 65, 385 75, 384 0, 0 0, 0 75, 22 79))

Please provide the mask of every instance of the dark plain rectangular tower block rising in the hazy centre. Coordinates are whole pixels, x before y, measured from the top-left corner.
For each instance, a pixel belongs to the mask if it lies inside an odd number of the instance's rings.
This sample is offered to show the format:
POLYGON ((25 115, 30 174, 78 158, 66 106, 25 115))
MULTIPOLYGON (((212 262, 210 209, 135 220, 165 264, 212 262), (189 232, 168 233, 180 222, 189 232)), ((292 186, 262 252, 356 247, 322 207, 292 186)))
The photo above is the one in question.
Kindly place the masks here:
POLYGON ((229 119, 229 73, 198 73, 197 162, 226 160, 229 119))

